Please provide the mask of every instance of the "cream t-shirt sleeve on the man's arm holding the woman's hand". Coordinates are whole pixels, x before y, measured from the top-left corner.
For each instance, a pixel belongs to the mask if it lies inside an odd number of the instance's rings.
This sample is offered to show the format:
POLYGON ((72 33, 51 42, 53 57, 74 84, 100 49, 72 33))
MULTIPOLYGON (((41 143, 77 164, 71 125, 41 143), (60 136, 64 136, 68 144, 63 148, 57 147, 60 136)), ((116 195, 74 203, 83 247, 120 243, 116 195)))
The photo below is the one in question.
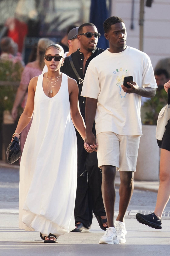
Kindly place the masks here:
POLYGON ((81 96, 97 99, 100 93, 99 85, 99 75, 97 68, 92 64, 92 61, 89 63, 84 77, 83 87, 81 91, 81 96))

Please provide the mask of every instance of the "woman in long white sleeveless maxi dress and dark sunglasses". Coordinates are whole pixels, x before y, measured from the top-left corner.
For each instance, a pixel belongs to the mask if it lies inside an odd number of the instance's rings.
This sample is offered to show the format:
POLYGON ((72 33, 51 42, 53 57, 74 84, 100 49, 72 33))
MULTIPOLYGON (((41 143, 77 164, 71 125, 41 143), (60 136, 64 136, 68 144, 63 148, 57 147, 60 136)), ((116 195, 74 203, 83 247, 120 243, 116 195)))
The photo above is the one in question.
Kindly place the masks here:
POLYGON ((46 242, 56 242, 75 228, 77 141, 73 123, 85 137, 77 83, 60 72, 63 54, 56 44, 46 49, 46 55, 52 56, 51 61, 45 59, 48 72, 30 81, 27 104, 14 134, 19 137, 34 110, 20 163, 19 228, 41 232, 46 242), (55 61, 54 56, 62 58, 55 61), (55 88, 50 88, 48 80, 58 77, 55 88))

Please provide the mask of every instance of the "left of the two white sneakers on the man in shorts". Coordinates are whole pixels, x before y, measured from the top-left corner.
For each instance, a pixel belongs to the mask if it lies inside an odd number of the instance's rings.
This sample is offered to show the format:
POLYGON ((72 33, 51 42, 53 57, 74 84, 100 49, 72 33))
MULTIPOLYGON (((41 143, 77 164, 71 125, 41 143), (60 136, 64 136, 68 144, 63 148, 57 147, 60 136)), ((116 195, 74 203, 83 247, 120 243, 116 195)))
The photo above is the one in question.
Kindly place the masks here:
POLYGON ((119 244, 117 240, 116 228, 106 228, 105 234, 100 238, 99 244, 119 244))

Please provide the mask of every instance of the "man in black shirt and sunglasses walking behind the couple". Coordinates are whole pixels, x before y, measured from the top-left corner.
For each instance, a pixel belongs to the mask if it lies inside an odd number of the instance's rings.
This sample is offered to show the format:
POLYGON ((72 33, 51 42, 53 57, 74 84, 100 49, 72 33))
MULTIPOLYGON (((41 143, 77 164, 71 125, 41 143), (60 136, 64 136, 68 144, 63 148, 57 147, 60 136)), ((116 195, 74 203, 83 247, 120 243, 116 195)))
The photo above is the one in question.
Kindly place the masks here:
MULTIPOLYGON (((77 81, 79 87, 79 105, 80 111, 85 121, 85 103, 86 98, 80 96, 84 76, 89 62, 104 50, 97 48, 97 41, 100 34, 92 23, 84 23, 78 29, 78 40, 80 49, 71 54, 72 62, 75 67, 71 66, 69 57, 64 60, 61 66, 61 72, 70 76, 77 81), (76 69, 74 71, 73 69, 76 69), (76 73, 77 75, 76 75, 76 73)), ((95 133, 95 123, 93 124, 95 133)), ((101 194, 102 173, 98 168, 97 153, 88 153, 84 149, 84 142, 79 133, 77 135, 78 150, 78 173, 77 173, 77 192, 75 202, 75 223, 76 229, 73 232, 88 232, 92 224, 92 211, 94 212, 99 226, 106 230, 107 219, 101 194)))

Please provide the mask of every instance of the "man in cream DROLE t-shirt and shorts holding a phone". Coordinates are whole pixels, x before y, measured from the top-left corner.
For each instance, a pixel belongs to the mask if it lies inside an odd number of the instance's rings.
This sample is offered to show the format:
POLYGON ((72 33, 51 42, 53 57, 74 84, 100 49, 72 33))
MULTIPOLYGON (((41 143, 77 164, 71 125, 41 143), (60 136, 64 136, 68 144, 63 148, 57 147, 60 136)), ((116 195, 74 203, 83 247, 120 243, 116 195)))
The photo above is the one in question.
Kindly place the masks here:
POLYGON ((110 48, 89 63, 81 96, 87 97, 84 145, 96 151, 98 144, 98 166, 103 175, 108 229, 99 243, 115 244, 126 242, 124 216, 133 193, 133 174, 142 135, 141 96, 154 97, 157 85, 148 55, 126 46, 123 20, 113 16, 103 26, 110 48), (123 86, 125 76, 133 76, 131 88, 123 86), (92 133, 94 117, 97 144, 92 133), (114 223, 116 168, 120 171, 121 184, 119 213, 114 223))

